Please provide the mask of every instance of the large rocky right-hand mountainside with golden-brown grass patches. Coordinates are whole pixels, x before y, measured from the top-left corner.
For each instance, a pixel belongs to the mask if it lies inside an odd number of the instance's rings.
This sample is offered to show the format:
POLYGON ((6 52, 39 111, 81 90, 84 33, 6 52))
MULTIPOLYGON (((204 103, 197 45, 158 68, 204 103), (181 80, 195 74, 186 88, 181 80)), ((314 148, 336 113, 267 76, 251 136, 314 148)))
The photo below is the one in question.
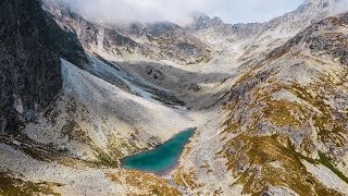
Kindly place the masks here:
POLYGON ((176 175, 194 176, 196 193, 347 194, 347 41, 343 14, 245 65, 225 99, 221 132, 197 138, 176 175))

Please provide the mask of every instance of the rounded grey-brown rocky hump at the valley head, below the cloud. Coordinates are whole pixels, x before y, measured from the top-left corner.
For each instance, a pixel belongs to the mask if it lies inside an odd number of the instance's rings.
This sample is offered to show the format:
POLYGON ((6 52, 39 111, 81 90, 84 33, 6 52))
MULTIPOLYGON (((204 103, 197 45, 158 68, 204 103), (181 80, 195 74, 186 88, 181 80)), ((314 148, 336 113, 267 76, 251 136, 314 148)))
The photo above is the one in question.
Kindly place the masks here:
POLYGON ((169 23, 133 24, 119 26, 124 35, 139 40, 149 56, 158 60, 170 60, 179 64, 197 64, 209 62, 211 48, 183 27, 169 23))

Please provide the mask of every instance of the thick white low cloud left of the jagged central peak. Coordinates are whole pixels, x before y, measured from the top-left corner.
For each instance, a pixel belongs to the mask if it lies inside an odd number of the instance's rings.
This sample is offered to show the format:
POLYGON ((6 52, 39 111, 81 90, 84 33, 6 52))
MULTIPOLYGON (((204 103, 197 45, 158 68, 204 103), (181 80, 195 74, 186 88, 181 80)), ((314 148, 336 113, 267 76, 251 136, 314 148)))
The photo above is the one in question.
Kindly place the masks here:
POLYGON ((192 11, 206 10, 210 0, 59 0, 84 16, 103 22, 190 22, 192 11))

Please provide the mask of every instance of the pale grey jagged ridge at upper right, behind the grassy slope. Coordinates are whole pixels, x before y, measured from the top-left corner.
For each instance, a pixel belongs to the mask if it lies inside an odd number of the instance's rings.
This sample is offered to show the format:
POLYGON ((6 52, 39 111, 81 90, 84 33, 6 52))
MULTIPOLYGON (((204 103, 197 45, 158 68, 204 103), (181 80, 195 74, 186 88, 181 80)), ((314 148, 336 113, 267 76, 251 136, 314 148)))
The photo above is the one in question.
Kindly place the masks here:
MULTIPOLYGON (((345 0, 306 1, 297 10, 270 22, 234 25, 225 24, 219 17, 197 14, 196 22, 186 28, 207 40, 220 59, 235 56, 238 61, 248 61, 271 52, 307 26, 340 13, 341 8, 346 8, 345 0)), ((231 59, 226 61, 228 63, 231 59)))

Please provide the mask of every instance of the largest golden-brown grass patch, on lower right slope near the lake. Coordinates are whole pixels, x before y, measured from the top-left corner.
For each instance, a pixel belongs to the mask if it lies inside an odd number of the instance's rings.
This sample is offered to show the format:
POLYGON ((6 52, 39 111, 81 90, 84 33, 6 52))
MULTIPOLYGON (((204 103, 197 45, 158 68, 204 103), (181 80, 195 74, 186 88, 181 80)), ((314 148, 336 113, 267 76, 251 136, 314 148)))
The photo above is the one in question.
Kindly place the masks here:
POLYGON ((244 194, 260 195, 270 186, 285 186, 299 195, 339 195, 307 172, 289 139, 276 135, 240 135, 224 148, 221 154, 228 160, 228 169, 238 179, 237 183, 244 185, 244 194), (286 146, 285 140, 288 140, 286 146), (235 144, 243 145, 237 147, 235 144), (237 152, 231 154, 227 150, 231 148, 237 149, 237 152), (278 162, 279 168, 274 168, 272 162, 278 162))

